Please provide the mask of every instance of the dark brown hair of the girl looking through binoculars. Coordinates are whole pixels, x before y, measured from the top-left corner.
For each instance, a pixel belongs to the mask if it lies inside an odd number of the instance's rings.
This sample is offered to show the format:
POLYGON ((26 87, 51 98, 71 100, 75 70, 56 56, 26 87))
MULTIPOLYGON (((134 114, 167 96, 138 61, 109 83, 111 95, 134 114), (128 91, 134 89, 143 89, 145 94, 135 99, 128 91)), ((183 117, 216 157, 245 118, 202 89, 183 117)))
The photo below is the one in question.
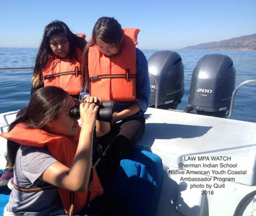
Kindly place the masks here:
POLYGON ((30 99, 25 112, 9 126, 9 131, 21 122, 25 122, 27 127, 44 128, 49 121, 55 120, 59 116, 68 98, 67 91, 56 86, 38 89, 30 99))

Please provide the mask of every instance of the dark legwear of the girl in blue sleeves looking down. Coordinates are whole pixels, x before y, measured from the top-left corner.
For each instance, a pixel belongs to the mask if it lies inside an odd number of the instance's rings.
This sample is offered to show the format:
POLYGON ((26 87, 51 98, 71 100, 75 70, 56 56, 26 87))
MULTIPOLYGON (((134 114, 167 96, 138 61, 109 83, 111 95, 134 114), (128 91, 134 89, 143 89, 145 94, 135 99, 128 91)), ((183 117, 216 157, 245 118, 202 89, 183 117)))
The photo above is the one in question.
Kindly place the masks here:
POLYGON ((145 132, 145 117, 142 115, 132 120, 124 120, 116 123, 108 135, 98 138, 101 145, 109 145, 101 162, 97 166, 97 172, 103 188, 111 188, 114 176, 121 159, 127 158, 132 148, 145 132))

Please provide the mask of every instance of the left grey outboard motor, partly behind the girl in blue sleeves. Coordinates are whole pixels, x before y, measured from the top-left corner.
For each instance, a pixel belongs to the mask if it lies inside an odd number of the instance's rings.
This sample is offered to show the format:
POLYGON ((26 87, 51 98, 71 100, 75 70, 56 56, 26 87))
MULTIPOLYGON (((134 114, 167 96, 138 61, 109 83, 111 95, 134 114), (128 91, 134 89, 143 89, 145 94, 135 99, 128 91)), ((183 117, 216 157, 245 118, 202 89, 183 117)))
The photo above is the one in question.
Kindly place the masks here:
POLYGON ((184 95, 184 66, 178 53, 159 51, 148 60, 150 106, 176 109, 184 95))

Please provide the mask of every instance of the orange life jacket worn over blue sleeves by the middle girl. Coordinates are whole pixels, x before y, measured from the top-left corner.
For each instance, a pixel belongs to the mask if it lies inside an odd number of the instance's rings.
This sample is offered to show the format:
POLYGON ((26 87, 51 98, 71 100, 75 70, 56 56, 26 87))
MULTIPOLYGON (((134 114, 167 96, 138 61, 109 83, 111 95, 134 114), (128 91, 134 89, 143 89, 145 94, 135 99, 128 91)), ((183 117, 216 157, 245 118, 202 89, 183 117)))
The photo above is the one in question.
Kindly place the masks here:
POLYGON ((139 29, 124 30, 120 52, 108 57, 101 53, 98 45, 88 52, 90 95, 98 96, 103 102, 136 101, 136 48, 139 29))

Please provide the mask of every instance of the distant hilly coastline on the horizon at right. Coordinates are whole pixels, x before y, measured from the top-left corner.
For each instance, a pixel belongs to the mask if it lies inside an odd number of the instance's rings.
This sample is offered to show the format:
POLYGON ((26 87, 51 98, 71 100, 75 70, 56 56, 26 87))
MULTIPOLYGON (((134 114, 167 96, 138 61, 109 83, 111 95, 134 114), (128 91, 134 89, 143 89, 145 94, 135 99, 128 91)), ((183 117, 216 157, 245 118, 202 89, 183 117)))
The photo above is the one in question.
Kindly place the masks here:
POLYGON ((256 50, 256 34, 188 46, 189 50, 256 50))

